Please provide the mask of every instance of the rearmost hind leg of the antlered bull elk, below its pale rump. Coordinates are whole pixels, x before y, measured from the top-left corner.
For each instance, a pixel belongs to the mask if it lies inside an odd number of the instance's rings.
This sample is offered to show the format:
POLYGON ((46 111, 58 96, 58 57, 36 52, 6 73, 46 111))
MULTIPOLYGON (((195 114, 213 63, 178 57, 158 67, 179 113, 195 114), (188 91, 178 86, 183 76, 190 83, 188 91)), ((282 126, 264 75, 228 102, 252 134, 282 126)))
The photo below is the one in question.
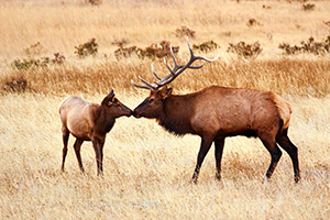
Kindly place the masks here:
POLYGON ((298 183, 300 180, 298 148, 295 146, 295 144, 292 143, 292 141, 287 136, 287 129, 284 130, 282 134, 276 136, 276 141, 290 156, 294 165, 295 182, 298 183))

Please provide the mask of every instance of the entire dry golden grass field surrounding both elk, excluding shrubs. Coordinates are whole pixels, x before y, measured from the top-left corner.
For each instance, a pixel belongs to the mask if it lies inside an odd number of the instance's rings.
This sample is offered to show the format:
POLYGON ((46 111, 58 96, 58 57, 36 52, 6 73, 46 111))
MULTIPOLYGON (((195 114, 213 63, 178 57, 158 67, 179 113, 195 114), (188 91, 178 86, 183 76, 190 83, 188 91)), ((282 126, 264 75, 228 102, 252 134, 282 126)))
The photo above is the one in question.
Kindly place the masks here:
MULTIPOLYGON (((299 45, 330 35, 330 2, 310 1, 124 0, 91 6, 84 0, 0 1, 0 218, 1 219, 329 219, 330 218, 330 56, 284 55, 280 43, 299 45), (249 20, 257 22, 252 26, 249 20), (61 172, 58 106, 70 95, 100 102, 113 88, 131 109, 148 91, 134 88, 141 75, 152 81, 151 64, 167 75, 162 61, 118 61, 114 41, 146 47, 162 40, 180 46, 213 40, 220 58, 187 70, 170 86, 175 94, 210 85, 272 90, 293 108, 289 136, 299 150, 301 182, 284 152, 267 183, 271 156, 256 139, 226 142, 222 179, 215 179, 213 148, 197 185, 190 183, 200 139, 174 136, 155 121, 120 118, 105 145, 103 177, 97 177, 91 143, 81 150, 79 172, 70 136, 65 173, 61 172), (75 46, 95 37, 95 57, 78 58, 75 46), (260 42, 254 59, 228 53, 229 43, 260 42), (40 42, 34 58, 63 54, 64 64, 18 69, 14 59, 31 58, 26 48, 40 42), (24 88, 20 87, 24 80, 24 88)), ((31 56, 31 54, 30 54, 31 56)))

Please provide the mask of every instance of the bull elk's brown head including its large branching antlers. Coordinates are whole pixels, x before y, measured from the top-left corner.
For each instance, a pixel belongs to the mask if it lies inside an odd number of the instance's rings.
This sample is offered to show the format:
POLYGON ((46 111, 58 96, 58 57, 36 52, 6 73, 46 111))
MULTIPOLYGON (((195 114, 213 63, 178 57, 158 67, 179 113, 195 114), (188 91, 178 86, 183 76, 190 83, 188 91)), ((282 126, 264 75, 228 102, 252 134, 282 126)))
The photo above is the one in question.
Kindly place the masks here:
POLYGON ((166 77, 161 78, 155 73, 154 66, 152 65, 152 72, 153 72, 154 76, 158 79, 158 81, 154 81, 154 84, 150 84, 145 79, 143 79, 141 76, 139 76, 139 78, 144 85, 138 85, 133 80, 131 80, 131 82, 135 87, 151 90, 150 96, 135 108, 134 117, 136 117, 136 118, 145 117, 145 118, 150 118, 150 119, 158 118, 160 114, 162 113, 164 100, 172 95, 172 88, 167 88, 166 85, 172 82, 176 77, 178 77, 187 68, 199 69, 205 65, 206 62, 215 62, 218 58, 218 56, 213 59, 209 59, 209 58, 201 57, 201 56, 195 56, 194 52, 190 47, 188 37, 187 37, 187 43, 188 43, 188 47, 190 51, 190 59, 186 65, 177 64, 176 58, 173 53, 172 45, 170 45, 170 54, 172 54, 172 58, 174 62, 174 67, 170 68, 166 62, 166 57, 164 57, 164 63, 165 63, 167 69, 169 70, 169 74, 166 77), (191 66, 191 64, 197 59, 201 59, 201 61, 204 61, 204 63, 199 66, 191 66))

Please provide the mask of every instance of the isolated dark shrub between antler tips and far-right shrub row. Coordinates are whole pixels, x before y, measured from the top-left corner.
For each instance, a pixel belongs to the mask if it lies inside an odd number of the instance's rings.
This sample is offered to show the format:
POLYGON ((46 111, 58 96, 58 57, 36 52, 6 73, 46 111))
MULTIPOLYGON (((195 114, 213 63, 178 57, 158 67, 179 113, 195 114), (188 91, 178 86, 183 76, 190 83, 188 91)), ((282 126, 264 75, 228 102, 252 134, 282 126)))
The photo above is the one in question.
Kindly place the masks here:
POLYGON ((230 43, 227 50, 227 52, 235 53, 244 58, 255 58, 262 51, 258 42, 253 44, 246 44, 245 42, 240 42, 238 44, 230 43))

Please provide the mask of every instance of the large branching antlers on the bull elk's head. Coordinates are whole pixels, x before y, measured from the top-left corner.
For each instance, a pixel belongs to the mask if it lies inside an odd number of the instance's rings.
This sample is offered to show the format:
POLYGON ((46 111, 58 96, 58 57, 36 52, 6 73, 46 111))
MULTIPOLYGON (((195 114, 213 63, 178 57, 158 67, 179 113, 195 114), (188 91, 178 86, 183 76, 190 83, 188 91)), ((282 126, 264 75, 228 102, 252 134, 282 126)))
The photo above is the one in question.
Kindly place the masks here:
POLYGON ((180 75, 184 70, 186 70, 187 68, 191 68, 191 69, 199 69, 201 68, 206 62, 215 62, 219 56, 217 56, 216 58, 213 59, 209 59, 209 58, 206 58, 206 57, 201 57, 201 56, 195 56, 194 55, 194 52, 190 47, 190 44, 189 44, 189 38, 187 36, 187 43, 188 43, 188 47, 189 47, 189 51, 190 51, 190 59, 189 62, 186 64, 186 65, 178 65, 177 62, 176 62, 176 58, 174 56, 174 53, 173 53, 173 48, 172 48, 172 45, 170 45, 170 54, 172 54, 172 58, 173 58, 173 62, 174 62, 174 67, 173 69, 167 65, 167 62, 166 62, 166 58, 164 57, 164 63, 167 67, 167 69, 169 70, 169 75, 167 75, 166 77, 164 78, 161 78, 154 70, 154 66, 152 64, 152 72, 154 74, 154 76, 160 80, 160 81, 154 81, 154 84, 150 84, 147 82, 146 80, 144 80, 141 76, 139 76, 140 80, 145 84, 145 86, 141 86, 141 85, 138 85, 138 84, 134 84, 133 80, 131 80, 131 82, 138 87, 138 88, 143 88, 143 89, 150 89, 150 90, 158 90, 161 87, 169 84, 170 81, 173 81, 176 77, 178 77, 178 75, 180 75), (190 66, 197 59, 202 59, 204 63, 199 66, 190 66))

